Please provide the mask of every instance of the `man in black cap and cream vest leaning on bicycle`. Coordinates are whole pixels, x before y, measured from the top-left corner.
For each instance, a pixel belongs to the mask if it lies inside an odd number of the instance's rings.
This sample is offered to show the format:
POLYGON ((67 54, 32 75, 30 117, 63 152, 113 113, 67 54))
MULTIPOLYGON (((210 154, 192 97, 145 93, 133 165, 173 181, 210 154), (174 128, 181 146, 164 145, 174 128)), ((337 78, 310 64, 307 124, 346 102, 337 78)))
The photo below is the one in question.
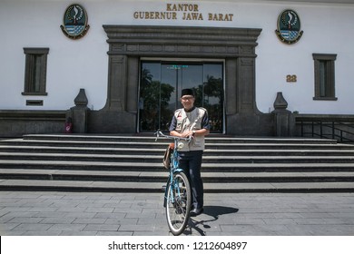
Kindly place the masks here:
POLYGON ((203 108, 195 107, 194 102, 192 89, 183 89, 181 94, 183 108, 174 112, 170 134, 182 138, 192 136, 192 142, 184 142, 183 147, 179 149, 179 164, 191 182, 191 215, 197 216, 203 211, 202 151, 205 146, 204 136, 209 134, 210 124, 208 112, 203 108))

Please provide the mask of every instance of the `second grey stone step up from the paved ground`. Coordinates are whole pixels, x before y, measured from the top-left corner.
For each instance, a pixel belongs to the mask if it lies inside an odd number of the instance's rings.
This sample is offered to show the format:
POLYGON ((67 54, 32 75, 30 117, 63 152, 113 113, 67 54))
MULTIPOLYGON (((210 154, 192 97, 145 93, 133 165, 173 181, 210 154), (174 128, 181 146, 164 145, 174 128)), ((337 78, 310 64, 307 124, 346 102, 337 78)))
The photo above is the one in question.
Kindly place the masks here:
MULTIPOLYGON (((60 171, 0 169, 0 179, 31 179, 52 181, 136 181, 165 182, 168 171, 60 171)), ((349 172, 204 172, 203 182, 307 182, 354 181, 354 171, 349 172)))

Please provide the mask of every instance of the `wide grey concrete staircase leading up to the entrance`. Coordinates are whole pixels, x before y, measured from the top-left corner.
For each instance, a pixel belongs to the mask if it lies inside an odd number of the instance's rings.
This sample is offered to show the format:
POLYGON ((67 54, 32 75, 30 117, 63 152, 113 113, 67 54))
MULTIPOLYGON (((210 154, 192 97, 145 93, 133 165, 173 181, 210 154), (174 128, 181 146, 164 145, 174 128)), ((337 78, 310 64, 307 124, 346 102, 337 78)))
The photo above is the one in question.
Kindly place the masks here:
MULTIPOLYGON (((162 191, 169 141, 25 135, 0 141, 0 190, 162 191)), ((208 137, 206 192, 354 191, 354 146, 332 140, 208 137)))

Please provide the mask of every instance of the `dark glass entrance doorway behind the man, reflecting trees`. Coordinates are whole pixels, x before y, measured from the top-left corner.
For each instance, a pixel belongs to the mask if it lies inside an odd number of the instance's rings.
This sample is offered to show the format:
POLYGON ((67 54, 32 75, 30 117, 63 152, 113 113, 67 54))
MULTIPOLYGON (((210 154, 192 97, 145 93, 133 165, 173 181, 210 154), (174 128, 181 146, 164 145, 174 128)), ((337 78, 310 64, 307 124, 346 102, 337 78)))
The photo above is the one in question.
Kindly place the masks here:
POLYGON ((168 131, 184 88, 192 88, 195 105, 209 112, 211 132, 223 132, 223 63, 181 61, 141 62, 139 132, 168 131))

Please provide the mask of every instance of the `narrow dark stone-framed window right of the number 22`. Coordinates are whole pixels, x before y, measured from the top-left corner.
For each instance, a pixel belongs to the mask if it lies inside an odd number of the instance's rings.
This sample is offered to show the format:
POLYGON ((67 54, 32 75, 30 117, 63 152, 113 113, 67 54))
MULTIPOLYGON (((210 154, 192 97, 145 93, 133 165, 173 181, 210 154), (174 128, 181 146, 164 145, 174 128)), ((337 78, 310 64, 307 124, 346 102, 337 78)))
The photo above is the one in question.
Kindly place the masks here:
POLYGON ((315 64, 314 100, 336 101, 334 61, 337 54, 312 54, 315 64))

